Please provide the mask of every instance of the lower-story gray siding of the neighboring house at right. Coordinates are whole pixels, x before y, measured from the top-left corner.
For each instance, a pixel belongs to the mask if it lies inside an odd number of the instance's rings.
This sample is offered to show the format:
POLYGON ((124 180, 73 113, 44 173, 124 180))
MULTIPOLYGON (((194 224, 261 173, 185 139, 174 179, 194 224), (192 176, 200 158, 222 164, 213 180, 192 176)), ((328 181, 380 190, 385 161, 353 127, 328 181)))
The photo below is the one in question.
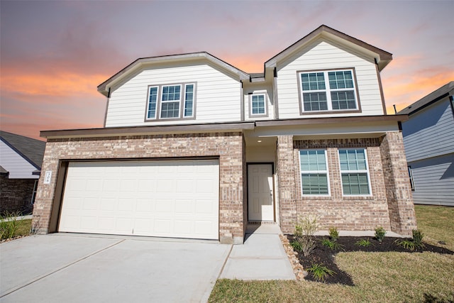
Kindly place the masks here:
POLYGON ((454 206, 454 153, 409 165, 413 171, 415 204, 454 206))

